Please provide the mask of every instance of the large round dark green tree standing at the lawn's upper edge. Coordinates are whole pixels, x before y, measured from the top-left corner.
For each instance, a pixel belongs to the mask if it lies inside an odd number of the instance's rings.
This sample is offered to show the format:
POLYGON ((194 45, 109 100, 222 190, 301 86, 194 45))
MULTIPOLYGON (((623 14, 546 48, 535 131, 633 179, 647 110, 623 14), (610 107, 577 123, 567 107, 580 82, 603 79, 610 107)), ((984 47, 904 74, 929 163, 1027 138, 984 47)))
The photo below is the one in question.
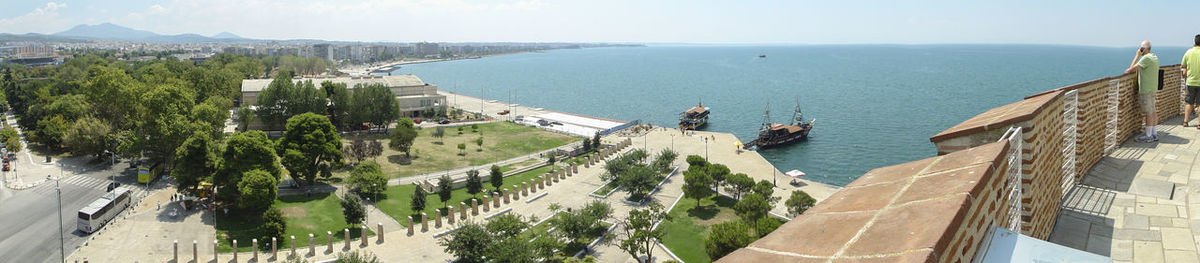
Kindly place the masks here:
POLYGON ((281 162, 292 172, 292 179, 312 185, 322 165, 342 162, 342 138, 329 118, 305 113, 288 119, 287 131, 280 139, 281 162))

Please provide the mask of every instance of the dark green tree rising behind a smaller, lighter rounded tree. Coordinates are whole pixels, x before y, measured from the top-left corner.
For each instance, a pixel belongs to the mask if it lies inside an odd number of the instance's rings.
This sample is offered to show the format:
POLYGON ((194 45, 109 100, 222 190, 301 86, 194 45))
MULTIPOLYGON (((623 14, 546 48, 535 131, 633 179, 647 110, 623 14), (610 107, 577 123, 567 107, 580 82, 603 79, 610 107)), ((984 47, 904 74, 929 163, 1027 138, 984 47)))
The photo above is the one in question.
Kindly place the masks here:
POLYGON ((275 143, 262 131, 234 133, 226 142, 224 151, 221 154, 221 168, 212 178, 217 187, 217 199, 236 203, 241 195, 238 191, 238 183, 241 183, 244 173, 254 169, 264 171, 276 180, 280 179, 282 168, 275 156, 275 143))

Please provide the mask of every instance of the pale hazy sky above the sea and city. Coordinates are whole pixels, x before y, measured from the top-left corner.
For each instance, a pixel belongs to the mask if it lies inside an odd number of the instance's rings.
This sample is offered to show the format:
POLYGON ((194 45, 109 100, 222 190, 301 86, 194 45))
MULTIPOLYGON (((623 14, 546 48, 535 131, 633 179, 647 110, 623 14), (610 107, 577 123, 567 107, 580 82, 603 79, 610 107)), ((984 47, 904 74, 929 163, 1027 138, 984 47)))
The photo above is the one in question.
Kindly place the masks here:
POLYGON ((1200 1, 4 0, 0 32, 114 23, 252 38, 1192 46, 1200 1))

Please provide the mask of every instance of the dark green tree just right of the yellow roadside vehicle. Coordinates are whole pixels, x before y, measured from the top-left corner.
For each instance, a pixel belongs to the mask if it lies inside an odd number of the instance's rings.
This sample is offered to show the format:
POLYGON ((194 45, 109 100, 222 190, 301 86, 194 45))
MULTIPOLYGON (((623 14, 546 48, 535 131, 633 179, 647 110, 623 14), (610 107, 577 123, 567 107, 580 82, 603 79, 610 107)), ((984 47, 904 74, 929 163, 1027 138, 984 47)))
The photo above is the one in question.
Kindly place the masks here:
POLYGON ((175 149, 175 168, 170 171, 170 178, 175 189, 190 190, 212 177, 220 166, 216 142, 206 132, 194 132, 175 149))

